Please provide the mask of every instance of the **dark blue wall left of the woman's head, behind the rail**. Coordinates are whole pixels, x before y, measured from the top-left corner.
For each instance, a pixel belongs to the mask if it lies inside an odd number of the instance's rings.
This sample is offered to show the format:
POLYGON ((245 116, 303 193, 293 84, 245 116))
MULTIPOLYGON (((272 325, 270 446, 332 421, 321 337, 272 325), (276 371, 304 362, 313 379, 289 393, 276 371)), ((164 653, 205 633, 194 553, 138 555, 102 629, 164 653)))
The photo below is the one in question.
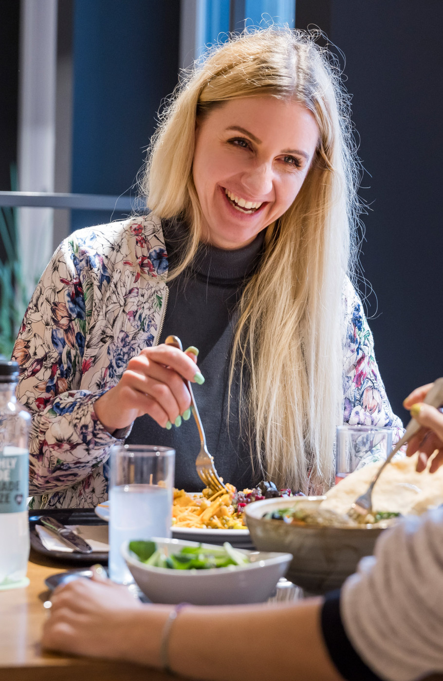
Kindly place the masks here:
MULTIPOLYGON (((73 51, 72 191, 120 195, 177 83, 179 0, 75 0, 73 51)), ((72 229, 110 217, 73 211, 72 229)))

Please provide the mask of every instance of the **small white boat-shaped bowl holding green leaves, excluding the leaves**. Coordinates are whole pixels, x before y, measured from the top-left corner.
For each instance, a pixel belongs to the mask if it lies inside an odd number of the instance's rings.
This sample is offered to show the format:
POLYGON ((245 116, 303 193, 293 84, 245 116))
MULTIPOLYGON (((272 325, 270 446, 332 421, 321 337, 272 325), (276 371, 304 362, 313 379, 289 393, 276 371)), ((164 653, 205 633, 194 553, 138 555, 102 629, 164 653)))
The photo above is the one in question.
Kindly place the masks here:
MULTIPOLYGON (((198 546, 194 541, 153 538, 157 546, 179 552, 183 546, 198 546)), ((273 593, 292 556, 239 549, 251 560, 247 565, 209 570, 171 570, 142 563, 129 551, 129 542, 121 553, 140 589, 153 603, 193 603, 194 605, 233 605, 262 603, 273 593)), ((215 548, 202 544, 204 548, 215 548)))

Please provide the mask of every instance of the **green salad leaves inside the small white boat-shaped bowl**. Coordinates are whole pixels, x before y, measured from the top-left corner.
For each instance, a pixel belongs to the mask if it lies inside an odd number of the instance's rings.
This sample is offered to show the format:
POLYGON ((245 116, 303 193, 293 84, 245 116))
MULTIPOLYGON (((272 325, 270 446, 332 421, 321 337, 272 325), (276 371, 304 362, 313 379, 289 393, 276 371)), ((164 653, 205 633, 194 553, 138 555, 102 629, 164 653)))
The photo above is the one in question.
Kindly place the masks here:
POLYGON ((201 544, 183 546, 181 551, 175 554, 169 554, 166 546, 158 548, 155 541, 129 541, 129 551, 145 565, 172 570, 207 570, 249 563, 247 556, 234 549, 227 541, 223 548, 208 549, 203 548, 201 544))

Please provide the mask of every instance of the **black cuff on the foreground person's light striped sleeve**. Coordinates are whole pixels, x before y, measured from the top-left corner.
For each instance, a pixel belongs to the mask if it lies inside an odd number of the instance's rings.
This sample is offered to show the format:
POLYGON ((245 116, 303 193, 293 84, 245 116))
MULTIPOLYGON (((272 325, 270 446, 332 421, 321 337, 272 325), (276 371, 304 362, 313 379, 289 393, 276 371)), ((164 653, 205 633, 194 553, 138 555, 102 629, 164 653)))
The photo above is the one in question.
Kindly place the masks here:
POLYGON ((339 589, 326 594, 321 624, 329 656, 346 681, 383 681, 365 665, 346 635, 341 622, 339 589))

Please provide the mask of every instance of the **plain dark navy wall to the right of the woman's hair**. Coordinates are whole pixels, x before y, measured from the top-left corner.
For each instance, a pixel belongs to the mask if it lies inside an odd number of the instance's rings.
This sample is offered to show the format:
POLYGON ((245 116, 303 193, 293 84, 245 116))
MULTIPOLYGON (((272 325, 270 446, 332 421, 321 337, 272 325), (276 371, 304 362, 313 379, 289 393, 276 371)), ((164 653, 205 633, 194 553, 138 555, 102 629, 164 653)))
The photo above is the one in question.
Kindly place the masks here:
POLYGON ((443 374, 443 2, 297 0, 296 8, 298 27, 317 22, 346 57, 367 170, 361 262, 376 294, 370 325, 404 420, 403 398, 443 374))

